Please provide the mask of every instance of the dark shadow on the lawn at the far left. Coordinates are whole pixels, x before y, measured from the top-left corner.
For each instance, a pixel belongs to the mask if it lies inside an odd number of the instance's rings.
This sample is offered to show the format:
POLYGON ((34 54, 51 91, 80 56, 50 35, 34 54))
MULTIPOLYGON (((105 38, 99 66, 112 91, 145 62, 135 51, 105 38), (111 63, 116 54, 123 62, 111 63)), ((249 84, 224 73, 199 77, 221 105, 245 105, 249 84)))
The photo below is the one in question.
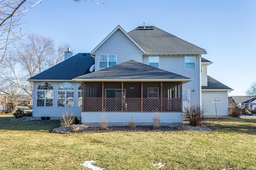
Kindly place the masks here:
POLYGON ((8 121, 14 117, 0 117, 0 130, 53 130, 58 123, 38 123, 30 121, 8 121))

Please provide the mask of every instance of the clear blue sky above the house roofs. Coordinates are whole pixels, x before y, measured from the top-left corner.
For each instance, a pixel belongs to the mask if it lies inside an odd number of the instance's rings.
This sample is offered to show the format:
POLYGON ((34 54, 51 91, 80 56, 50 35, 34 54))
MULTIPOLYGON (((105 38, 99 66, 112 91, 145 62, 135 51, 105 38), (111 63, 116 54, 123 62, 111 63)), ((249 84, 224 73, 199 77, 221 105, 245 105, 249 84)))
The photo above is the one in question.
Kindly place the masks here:
MULTIPOLYGON (((255 0, 42 0, 24 17, 29 32, 90 52, 116 26, 156 26, 206 49, 208 75, 245 95, 256 81, 255 0)), ((36 2, 36 1, 34 1, 36 2)))

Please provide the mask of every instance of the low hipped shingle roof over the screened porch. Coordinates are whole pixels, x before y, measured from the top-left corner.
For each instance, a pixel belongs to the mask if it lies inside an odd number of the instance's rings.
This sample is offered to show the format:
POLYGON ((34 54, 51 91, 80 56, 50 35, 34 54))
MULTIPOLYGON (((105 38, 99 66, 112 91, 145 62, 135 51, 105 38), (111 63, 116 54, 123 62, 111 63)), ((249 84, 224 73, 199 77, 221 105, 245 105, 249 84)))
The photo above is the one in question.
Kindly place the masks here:
POLYGON ((134 60, 126 61, 106 69, 88 73, 74 81, 179 81, 186 83, 192 79, 152 67, 134 60))

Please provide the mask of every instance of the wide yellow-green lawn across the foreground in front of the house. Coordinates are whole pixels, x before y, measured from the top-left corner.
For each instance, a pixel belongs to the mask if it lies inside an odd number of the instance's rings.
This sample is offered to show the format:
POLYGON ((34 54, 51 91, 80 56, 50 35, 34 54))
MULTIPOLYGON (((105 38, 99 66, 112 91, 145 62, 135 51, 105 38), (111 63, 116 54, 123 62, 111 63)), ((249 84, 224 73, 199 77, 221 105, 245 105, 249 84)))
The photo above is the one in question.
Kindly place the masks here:
POLYGON ((52 134, 58 124, 10 122, 0 115, 0 169, 256 170, 256 119, 207 123, 212 132, 52 134))

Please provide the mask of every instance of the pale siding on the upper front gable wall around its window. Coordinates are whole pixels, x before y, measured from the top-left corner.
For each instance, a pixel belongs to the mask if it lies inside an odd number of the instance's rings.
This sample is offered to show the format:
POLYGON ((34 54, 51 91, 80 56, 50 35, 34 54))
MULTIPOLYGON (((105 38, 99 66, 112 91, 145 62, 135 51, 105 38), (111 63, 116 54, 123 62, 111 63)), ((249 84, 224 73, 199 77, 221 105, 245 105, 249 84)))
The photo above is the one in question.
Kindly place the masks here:
POLYGON ((97 51, 95 51, 95 71, 99 68, 99 54, 117 54, 117 64, 129 60, 142 62, 143 52, 127 36, 117 30, 97 51))

